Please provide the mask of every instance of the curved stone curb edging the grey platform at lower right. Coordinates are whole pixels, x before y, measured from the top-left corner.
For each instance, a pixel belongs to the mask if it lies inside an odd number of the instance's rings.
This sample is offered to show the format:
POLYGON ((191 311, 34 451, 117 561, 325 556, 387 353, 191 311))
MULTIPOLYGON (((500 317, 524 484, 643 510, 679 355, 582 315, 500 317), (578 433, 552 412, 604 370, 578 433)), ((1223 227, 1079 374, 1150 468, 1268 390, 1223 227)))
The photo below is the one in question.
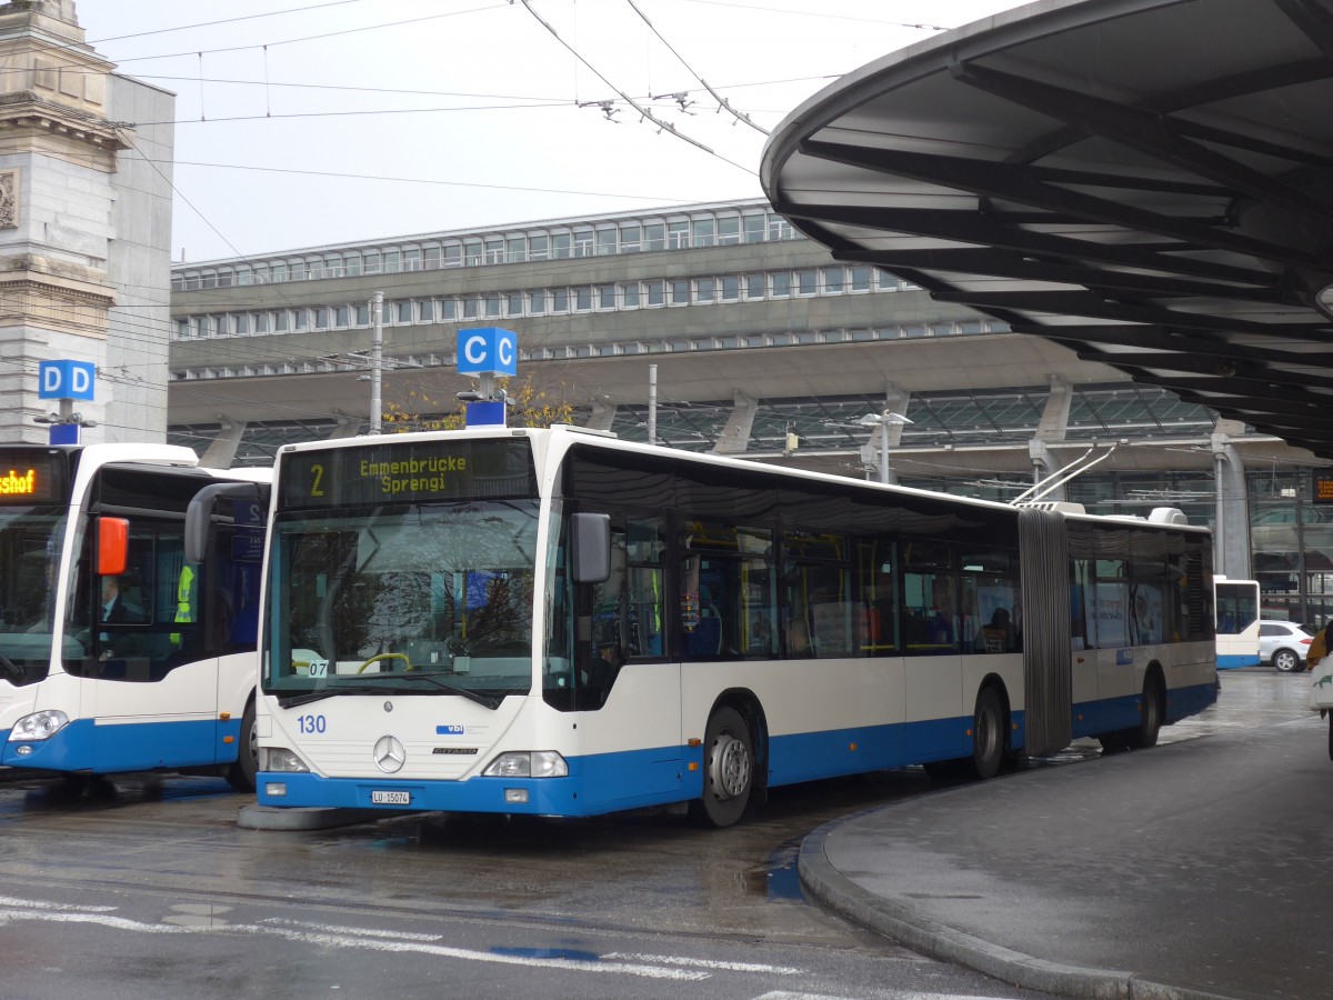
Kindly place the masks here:
POLYGON ((964 965, 1024 989, 1080 1000, 1228 1000, 1221 993, 1138 979, 1133 972, 1037 959, 928 920, 900 903, 868 892, 842 875, 826 852, 828 837, 834 829, 866 815, 862 812, 826 823, 801 841, 797 860, 801 883, 841 916, 932 959, 964 965))

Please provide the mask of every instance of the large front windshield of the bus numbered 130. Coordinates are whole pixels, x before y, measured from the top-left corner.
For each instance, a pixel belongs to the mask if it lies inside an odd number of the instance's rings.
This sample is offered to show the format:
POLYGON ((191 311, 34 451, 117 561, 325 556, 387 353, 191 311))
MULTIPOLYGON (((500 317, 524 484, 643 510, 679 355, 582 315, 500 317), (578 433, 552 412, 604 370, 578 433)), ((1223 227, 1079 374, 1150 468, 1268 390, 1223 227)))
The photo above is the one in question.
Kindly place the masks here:
POLYGON ((532 687, 535 500, 287 516, 275 525, 264 689, 472 696, 532 687))

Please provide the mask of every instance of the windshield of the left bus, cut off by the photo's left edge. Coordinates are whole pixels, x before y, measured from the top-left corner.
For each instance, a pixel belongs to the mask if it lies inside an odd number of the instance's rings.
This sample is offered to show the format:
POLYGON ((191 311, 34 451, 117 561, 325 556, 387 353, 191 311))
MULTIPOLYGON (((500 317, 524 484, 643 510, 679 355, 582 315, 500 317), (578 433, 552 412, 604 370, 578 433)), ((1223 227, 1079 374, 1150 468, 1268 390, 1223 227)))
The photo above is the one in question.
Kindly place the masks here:
POLYGON ((47 676, 64 533, 61 507, 0 508, 0 680, 47 676))

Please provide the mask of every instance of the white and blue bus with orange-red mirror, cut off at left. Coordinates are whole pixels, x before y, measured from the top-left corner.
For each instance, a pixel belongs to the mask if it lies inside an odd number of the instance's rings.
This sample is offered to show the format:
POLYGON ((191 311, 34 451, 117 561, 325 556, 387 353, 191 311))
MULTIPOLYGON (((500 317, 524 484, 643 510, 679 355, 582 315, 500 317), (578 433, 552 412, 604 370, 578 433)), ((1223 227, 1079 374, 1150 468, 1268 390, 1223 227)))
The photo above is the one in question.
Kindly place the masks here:
POLYGON ((0 447, 4 764, 199 771, 253 788, 272 473, 197 465, 173 445, 0 447), (216 511, 197 519, 196 561, 192 501, 216 511))

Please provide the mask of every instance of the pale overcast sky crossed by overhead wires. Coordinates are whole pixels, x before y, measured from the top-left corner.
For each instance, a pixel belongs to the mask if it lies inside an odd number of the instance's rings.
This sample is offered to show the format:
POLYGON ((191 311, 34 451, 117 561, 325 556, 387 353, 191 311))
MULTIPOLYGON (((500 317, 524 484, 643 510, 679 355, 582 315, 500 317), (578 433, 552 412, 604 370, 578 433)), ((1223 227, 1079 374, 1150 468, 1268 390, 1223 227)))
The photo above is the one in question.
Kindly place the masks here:
POLYGON ((701 79, 768 131, 842 73, 1020 4, 76 5, 100 55, 177 95, 172 259, 200 261, 760 197, 765 136, 701 79))

